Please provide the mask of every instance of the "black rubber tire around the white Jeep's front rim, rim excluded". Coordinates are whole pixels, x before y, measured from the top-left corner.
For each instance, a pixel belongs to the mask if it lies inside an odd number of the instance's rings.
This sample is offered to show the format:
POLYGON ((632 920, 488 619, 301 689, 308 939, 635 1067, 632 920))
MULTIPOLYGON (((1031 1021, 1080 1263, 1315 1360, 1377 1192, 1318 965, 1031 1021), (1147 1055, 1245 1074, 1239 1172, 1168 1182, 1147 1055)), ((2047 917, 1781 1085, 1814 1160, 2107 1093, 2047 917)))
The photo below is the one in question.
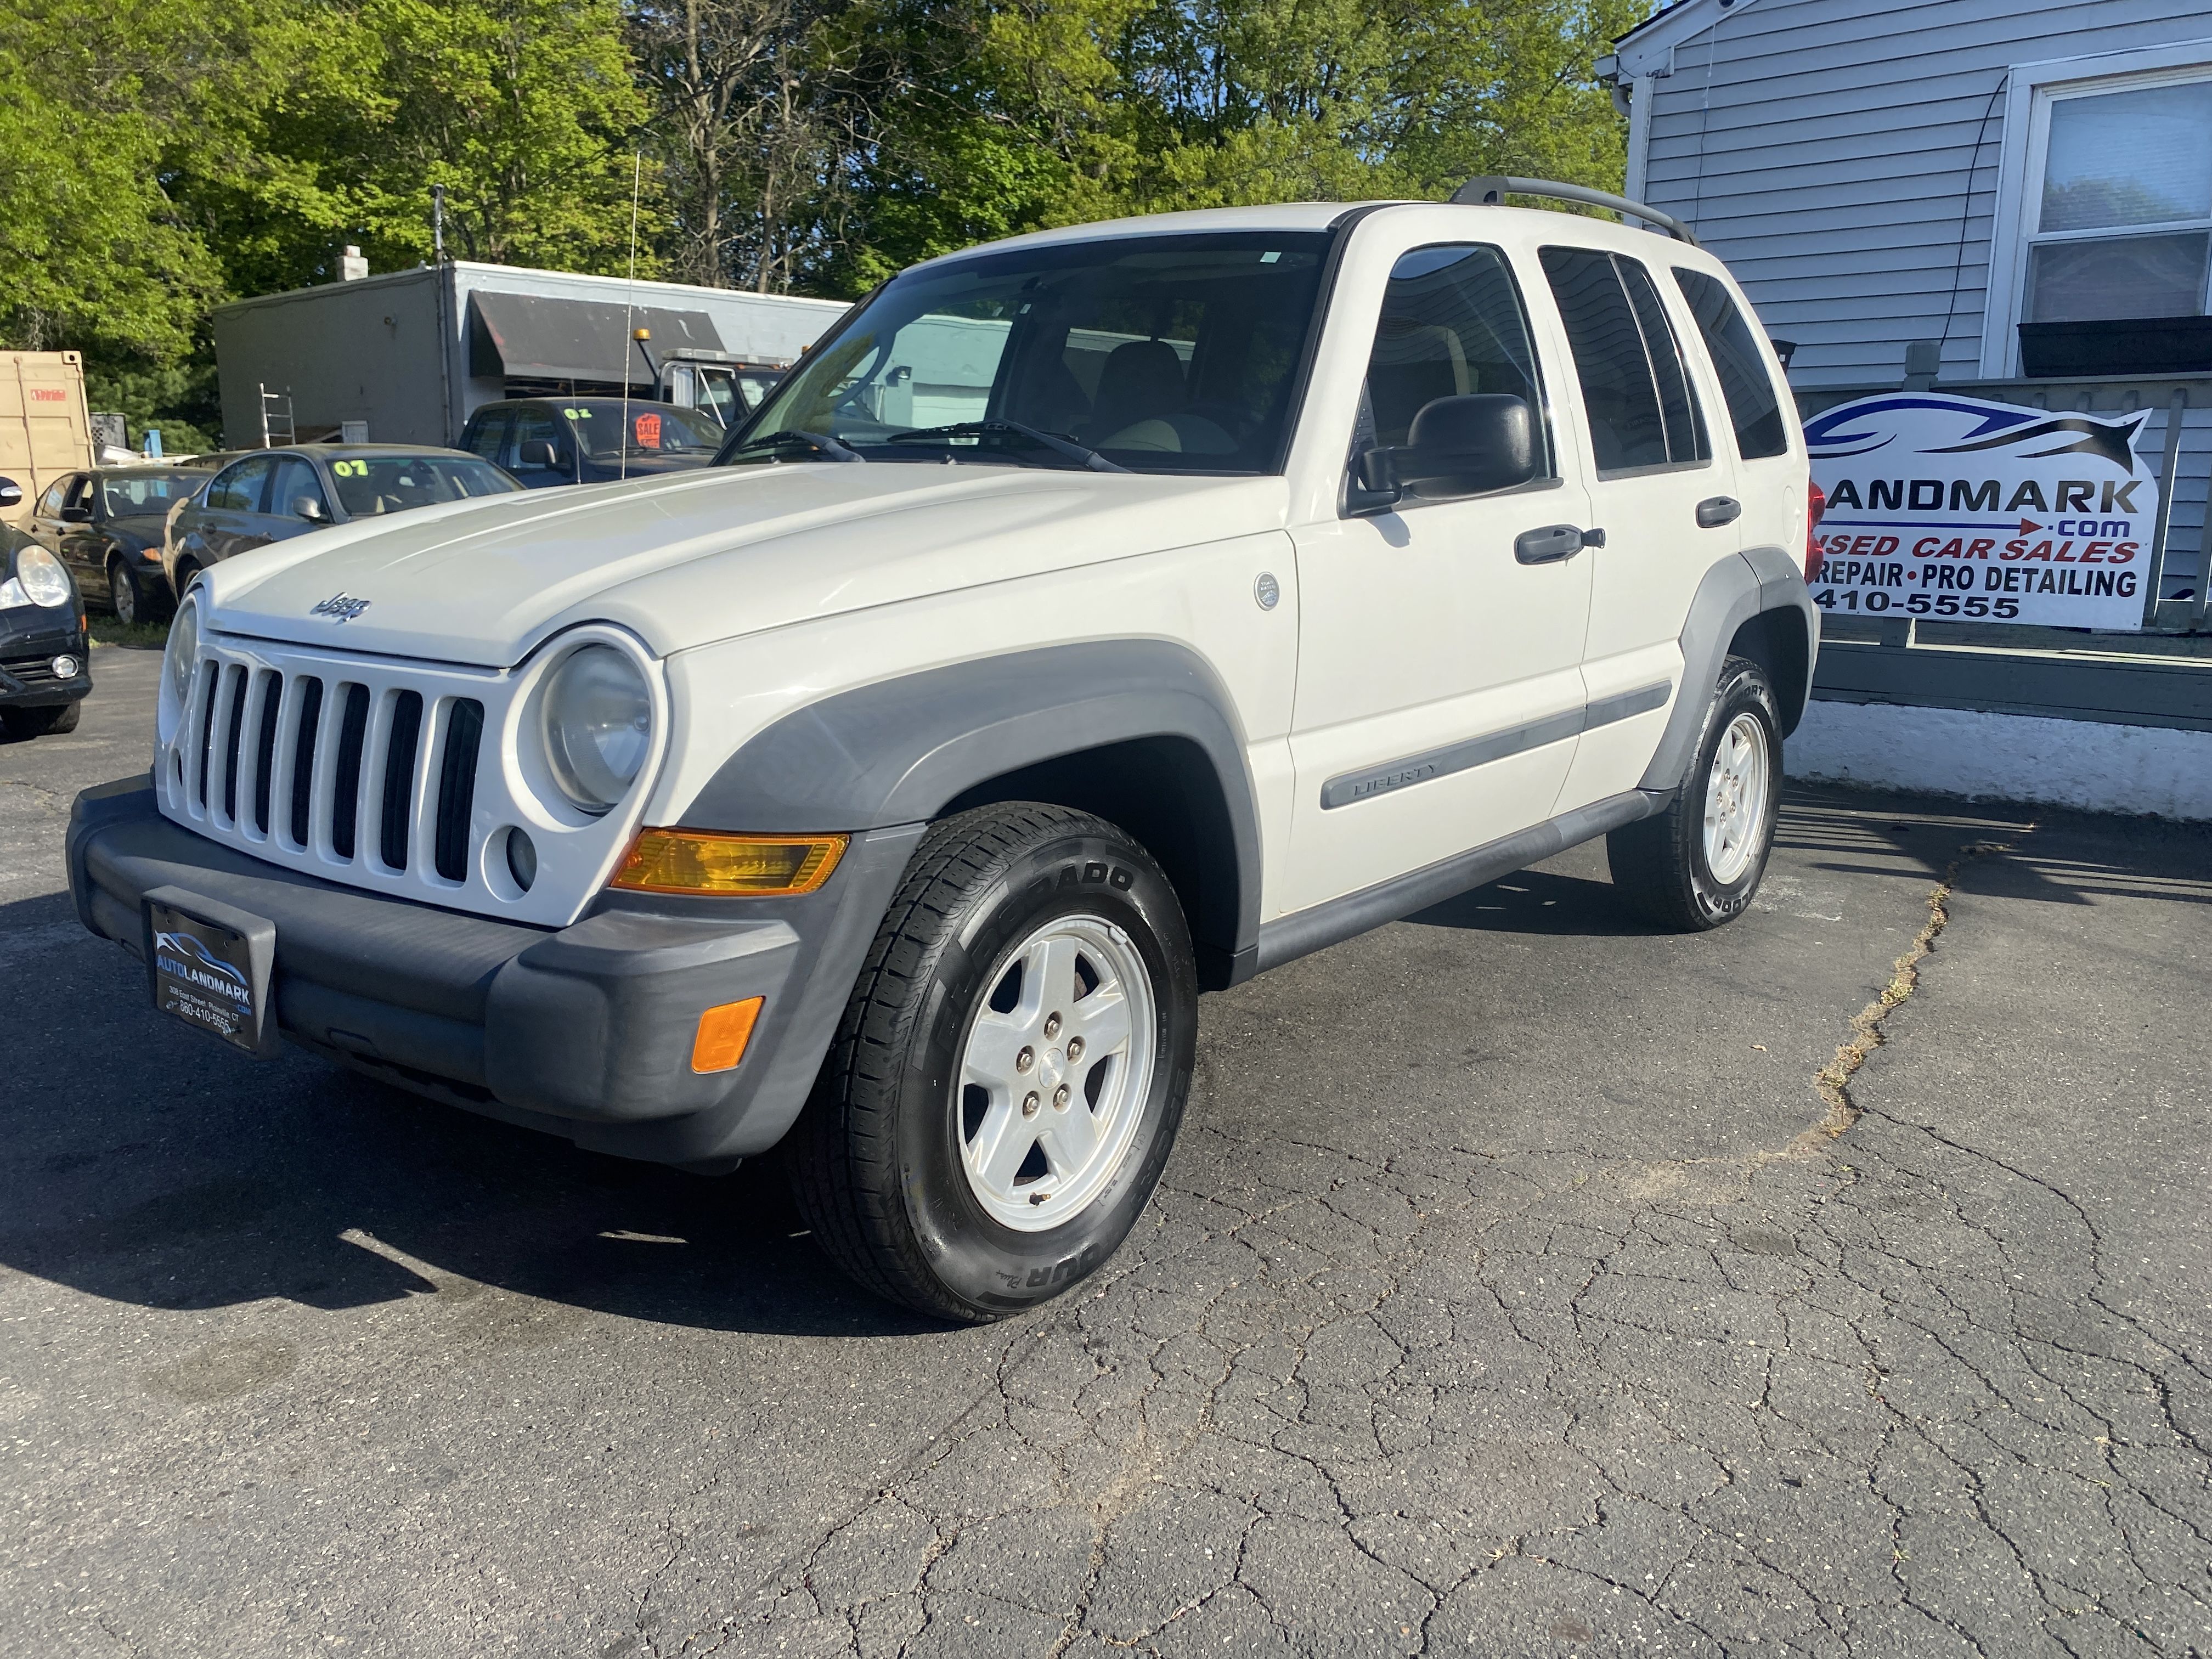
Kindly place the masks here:
POLYGON ((1020 1314, 1093 1274, 1137 1223, 1175 1146, 1194 1051, 1190 931, 1144 847, 1068 807, 964 812, 922 836, 876 931, 785 1141, 792 1192, 832 1261, 874 1294, 967 1323, 1020 1314), (1150 975, 1150 1086, 1097 1197, 1062 1225, 1015 1230, 962 1166, 978 1130, 964 1128, 960 1066, 1015 947, 1077 916, 1119 929, 1150 975))

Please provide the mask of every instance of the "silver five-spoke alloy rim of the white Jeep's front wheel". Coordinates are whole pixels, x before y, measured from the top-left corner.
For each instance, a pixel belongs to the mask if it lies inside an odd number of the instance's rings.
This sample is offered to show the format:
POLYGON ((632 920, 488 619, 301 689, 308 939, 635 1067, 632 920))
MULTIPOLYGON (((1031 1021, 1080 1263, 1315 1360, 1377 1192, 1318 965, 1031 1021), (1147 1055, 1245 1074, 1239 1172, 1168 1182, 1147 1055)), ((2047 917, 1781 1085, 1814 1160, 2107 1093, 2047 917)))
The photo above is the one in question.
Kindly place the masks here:
POLYGON ((1152 1093, 1152 973, 1102 916, 1055 916, 991 973, 953 1097, 960 1166, 1004 1228, 1044 1232, 1097 1199, 1152 1093))

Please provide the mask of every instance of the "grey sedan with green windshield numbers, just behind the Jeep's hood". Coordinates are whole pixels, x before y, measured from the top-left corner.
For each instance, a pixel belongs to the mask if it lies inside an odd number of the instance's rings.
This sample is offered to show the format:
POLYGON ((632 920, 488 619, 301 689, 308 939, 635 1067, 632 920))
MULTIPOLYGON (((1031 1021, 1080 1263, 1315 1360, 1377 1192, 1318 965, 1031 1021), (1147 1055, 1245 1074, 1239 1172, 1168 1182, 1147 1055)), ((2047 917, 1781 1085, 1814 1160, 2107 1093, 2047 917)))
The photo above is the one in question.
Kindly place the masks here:
POLYGON ((257 449, 219 471, 168 520, 161 566, 184 595, 210 564, 356 518, 522 489, 460 449, 296 445, 257 449))

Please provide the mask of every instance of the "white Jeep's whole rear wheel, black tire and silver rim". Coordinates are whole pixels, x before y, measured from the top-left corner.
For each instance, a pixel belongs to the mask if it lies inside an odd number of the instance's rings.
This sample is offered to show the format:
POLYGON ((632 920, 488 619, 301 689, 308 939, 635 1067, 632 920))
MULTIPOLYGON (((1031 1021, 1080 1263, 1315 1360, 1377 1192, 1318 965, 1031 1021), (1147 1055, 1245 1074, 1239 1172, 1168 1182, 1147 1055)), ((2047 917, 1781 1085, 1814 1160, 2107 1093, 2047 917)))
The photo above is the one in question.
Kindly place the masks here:
POLYGON ((1781 790, 1774 688, 1759 664, 1730 657, 1674 801, 1606 836, 1613 885, 1679 933, 1734 920, 1765 876, 1781 790))

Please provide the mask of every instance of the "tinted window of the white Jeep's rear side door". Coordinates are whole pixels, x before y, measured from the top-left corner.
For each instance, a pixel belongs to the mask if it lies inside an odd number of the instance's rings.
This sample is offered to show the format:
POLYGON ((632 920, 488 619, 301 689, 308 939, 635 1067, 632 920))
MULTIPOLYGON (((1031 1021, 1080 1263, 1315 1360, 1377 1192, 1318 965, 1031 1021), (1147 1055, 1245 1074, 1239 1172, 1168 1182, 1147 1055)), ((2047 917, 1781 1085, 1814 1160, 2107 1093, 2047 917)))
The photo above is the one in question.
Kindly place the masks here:
POLYGON ((1683 467, 1712 458, 1697 392, 1650 272, 1597 248, 1544 248, 1597 471, 1683 467))

